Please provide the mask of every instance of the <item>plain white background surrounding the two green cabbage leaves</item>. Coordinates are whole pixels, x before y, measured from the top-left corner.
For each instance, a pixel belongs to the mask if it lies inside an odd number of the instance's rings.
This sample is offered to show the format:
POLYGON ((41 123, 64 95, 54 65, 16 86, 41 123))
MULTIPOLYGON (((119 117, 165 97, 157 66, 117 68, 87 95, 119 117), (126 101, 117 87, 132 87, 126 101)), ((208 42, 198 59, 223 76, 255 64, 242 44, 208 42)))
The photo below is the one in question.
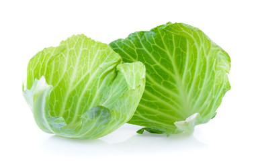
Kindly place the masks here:
POLYGON ((0 1, 0 160, 256 160, 256 5, 253 1, 0 1), (157 25, 194 25, 232 60, 214 119, 193 135, 136 134, 124 125, 97 140, 41 131, 22 97, 28 61, 73 34, 110 43, 157 25))

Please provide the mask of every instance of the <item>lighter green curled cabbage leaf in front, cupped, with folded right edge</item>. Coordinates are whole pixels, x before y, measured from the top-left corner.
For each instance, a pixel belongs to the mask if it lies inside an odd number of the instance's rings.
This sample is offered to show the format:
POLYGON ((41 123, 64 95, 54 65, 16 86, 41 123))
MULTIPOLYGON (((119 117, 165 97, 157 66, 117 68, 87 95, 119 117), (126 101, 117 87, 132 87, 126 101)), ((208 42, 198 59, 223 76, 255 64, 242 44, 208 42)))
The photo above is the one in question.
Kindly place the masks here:
POLYGON ((142 62, 122 63, 108 44, 78 35, 30 60, 24 97, 43 131, 95 139, 132 117, 144 87, 142 62))

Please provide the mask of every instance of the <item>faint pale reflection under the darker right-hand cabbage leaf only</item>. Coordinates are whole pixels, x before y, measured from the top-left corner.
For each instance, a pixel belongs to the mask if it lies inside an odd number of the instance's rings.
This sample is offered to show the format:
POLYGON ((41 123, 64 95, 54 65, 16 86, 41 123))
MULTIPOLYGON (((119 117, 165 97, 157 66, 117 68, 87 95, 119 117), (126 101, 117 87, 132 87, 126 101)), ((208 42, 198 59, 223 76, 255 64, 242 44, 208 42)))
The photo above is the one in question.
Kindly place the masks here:
POLYGON ((198 142, 194 136, 188 136, 185 133, 171 135, 169 138, 152 133, 144 133, 143 136, 138 134, 132 136, 126 142, 114 144, 114 146, 123 152, 142 155, 185 152, 207 147, 205 144, 198 142))

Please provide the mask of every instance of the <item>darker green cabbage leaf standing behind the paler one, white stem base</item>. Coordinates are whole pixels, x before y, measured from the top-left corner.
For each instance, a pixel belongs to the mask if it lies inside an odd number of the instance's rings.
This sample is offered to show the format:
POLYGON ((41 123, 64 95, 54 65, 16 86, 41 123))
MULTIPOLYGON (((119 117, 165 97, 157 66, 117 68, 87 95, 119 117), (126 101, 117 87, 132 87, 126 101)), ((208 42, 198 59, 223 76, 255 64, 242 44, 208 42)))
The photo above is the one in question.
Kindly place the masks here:
POLYGON ((191 25, 167 23, 110 46, 124 62, 146 66, 145 91, 128 122, 145 126, 138 133, 193 133, 216 115, 230 90, 230 57, 191 25))

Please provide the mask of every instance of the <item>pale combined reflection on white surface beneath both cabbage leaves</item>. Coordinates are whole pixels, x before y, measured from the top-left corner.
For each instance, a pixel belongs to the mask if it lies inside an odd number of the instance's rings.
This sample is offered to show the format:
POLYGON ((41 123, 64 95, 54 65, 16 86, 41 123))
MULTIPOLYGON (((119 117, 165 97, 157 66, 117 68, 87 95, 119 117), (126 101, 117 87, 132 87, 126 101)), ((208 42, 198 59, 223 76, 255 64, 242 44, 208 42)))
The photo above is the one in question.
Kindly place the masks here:
POLYGON ((135 125, 126 124, 110 135, 97 140, 73 140, 52 136, 42 144, 41 148, 48 154, 79 158, 173 154, 207 148, 194 136, 186 133, 171 135, 167 138, 165 135, 147 132, 142 135, 136 134, 135 131, 138 128, 135 125))

